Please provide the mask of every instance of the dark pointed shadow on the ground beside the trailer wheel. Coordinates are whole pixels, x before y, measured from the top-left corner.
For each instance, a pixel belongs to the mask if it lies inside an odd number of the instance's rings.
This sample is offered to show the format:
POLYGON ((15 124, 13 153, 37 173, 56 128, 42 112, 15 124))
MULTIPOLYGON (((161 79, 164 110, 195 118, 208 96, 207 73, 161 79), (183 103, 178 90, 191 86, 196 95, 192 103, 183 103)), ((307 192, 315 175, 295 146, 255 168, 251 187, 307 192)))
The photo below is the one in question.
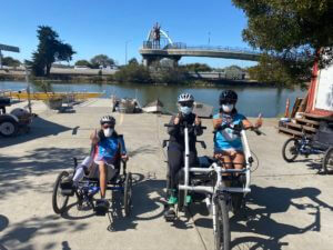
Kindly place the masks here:
POLYGON ((41 117, 33 119, 31 123, 31 131, 24 134, 18 134, 11 138, 0 138, 0 148, 9 147, 13 144, 24 143, 38 138, 57 136, 58 133, 71 130, 71 128, 44 120, 41 117))

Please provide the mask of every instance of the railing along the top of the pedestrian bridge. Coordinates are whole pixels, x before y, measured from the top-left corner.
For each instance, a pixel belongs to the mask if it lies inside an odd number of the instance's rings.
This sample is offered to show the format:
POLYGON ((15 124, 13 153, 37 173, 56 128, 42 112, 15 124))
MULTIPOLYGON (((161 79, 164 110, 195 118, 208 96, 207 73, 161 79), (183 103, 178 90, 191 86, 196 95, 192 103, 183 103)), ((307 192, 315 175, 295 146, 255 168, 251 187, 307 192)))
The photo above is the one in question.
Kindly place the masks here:
POLYGON ((240 48, 240 47, 186 46, 186 43, 184 43, 184 42, 173 42, 173 43, 169 43, 167 46, 161 46, 160 43, 157 43, 157 42, 143 41, 143 49, 158 49, 158 50, 186 49, 186 50, 230 51, 230 52, 260 54, 259 51, 240 48))

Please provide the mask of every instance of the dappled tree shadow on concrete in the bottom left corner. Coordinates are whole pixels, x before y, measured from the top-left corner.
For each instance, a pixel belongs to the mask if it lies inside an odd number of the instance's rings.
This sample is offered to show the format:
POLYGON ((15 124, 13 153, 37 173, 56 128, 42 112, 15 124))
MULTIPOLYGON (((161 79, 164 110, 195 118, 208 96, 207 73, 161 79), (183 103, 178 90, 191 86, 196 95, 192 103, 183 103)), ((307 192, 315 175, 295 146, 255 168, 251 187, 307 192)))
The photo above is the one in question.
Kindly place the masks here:
MULTIPOLYGON (((34 217, 11 224, 0 238, 0 249, 34 249, 30 240, 36 237, 82 231, 88 223, 59 220, 57 216, 34 217)), ((48 242, 43 249, 56 248, 56 242, 48 242)))

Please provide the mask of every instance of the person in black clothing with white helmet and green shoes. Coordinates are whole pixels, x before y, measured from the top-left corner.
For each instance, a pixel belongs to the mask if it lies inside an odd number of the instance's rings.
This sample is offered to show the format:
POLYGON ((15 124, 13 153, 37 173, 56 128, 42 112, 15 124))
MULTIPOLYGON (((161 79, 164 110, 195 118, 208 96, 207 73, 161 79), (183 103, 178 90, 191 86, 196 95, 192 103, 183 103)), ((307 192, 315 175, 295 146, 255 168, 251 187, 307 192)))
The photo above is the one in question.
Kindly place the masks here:
POLYGON ((178 176, 179 171, 184 166, 184 128, 181 124, 194 124, 194 127, 189 129, 190 166, 198 162, 195 140, 196 136, 202 134, 202 129, 200 127, 200 118, 192 112, 193 102, 194 98, 191 93, 180 94, 178 98, 179 113, 171 118, 170 124, 172 124, 172 127, 168 128, 168 133, 170 134, 170 142, 168 147, 170 197, 168 204, 171 207, 178 202, 178 176))

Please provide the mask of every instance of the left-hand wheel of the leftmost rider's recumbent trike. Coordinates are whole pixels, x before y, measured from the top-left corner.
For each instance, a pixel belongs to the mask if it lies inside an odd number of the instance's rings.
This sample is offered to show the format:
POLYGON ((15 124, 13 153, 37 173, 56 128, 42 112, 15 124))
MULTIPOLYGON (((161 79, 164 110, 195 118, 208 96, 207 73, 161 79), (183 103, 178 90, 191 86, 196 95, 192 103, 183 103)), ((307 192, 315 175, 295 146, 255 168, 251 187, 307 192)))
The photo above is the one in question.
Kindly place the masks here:
POLYGON ((69 172, 62 171, 56 180, 56 184, 53 188, 53 194, 52 194, 52 207, 53 207, 53 211, 56 213, 63 213, 65 210, 68 200, 69 200, 69 196, 63 196, 61 193, 61 188, 60 188, 61 181, 63 179, 65 179, 68 176, 69 176, 69 172))

